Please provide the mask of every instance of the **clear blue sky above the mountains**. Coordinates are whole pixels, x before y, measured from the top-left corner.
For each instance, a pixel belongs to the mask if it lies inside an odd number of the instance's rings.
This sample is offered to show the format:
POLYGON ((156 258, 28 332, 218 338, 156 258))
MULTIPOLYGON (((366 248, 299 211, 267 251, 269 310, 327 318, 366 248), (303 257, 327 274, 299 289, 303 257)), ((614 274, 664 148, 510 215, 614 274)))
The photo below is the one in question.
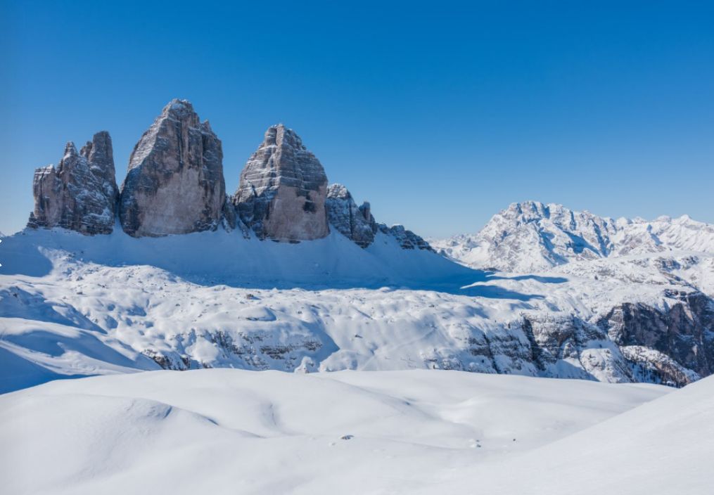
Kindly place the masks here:
POLYGON ((422 235, 527 199, 714 222, 711 2, 244 3, 0 0, 0 231, 66 141, 108 130, 121 183, 174 97, 223 141, 231 193, 282 122, 422 235))

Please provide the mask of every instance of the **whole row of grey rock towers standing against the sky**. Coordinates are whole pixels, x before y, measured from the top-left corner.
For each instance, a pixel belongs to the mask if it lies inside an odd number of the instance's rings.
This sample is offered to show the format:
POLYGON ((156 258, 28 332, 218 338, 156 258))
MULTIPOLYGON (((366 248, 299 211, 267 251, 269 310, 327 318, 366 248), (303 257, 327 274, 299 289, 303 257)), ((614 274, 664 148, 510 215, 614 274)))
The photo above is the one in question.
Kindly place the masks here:
POLYGON ((119 218, 134 237, 249 230, 259 239, 324 238, 330 227, 366 248, 378 232, 405 249, 431 247, 401 225, 388 228, 357 206, 340 184, 328 186, 320 161, 282 124, 271 126, 248 159, 236 193, 226 195, 221 140, 186 100, 174 99, 134 146, 121 188, 116 185, 109 133, 80 152, 67 143, 59 165, 35 171, 30 228, 61 227, 109 234, 119 218))

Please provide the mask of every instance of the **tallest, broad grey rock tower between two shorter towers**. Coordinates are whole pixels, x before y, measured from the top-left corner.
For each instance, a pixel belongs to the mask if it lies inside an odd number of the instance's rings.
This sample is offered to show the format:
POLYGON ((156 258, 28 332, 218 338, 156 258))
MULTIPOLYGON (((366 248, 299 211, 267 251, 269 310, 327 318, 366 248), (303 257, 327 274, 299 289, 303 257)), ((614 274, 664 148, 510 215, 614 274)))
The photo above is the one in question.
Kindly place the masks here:
POLYGON ((221 141, 191 103, 170 101, 129 158, 121 227, 134 237, 213 230, 225 201, 221 141))

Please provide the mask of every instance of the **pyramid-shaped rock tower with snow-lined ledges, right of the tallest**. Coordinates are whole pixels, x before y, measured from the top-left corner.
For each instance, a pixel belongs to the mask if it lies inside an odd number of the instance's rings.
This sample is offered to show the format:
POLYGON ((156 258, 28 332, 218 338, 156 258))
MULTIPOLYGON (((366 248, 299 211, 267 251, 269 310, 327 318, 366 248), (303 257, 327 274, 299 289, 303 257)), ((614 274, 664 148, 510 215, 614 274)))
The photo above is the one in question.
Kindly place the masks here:
POLYGON ((298 135, 282 124, 246 163, 233 196, 243 223, 259 238, 299 241, 330 232, 325 210, 327 175, 298 135))

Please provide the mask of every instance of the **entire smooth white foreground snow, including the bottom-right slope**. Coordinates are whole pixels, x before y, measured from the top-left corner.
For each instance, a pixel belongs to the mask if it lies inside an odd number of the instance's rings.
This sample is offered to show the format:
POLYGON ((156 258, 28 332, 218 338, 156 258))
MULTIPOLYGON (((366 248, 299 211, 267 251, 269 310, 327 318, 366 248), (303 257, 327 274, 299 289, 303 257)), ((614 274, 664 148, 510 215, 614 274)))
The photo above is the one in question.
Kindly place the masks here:
POLYGON ((426 370, 62 380, 0 396, 0 478, 18 495, 705 494, 713 384, 426 370))

